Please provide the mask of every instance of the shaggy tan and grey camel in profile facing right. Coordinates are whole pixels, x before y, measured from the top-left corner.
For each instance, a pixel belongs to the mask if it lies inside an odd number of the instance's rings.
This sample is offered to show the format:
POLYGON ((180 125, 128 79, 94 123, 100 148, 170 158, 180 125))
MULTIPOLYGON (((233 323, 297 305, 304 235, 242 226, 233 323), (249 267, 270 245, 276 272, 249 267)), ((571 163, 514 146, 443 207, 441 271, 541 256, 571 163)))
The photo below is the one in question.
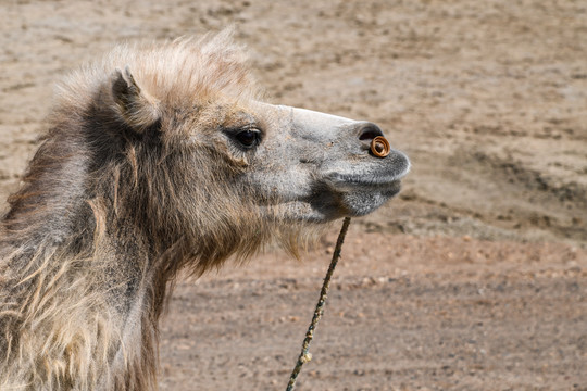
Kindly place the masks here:
POLYGON ((58 87, 0 220, 0 390, 157 389, 158 321, 200 276, 400 190, 375 124, 262 100, 229 33, 122 45, 58 87))

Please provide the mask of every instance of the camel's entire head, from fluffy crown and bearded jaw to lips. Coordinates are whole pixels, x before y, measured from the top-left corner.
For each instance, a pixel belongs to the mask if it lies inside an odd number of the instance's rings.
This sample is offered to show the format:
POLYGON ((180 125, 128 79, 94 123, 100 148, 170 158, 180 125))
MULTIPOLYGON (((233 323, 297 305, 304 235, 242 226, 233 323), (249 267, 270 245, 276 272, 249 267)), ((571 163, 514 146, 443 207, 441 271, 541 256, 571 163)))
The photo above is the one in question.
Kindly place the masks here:
POLYGON ((120 220, 165 238, 162 248, 203 243, 200 257, 250 253, 276 232, 369 214, 410 168, 399 151, 370 151, 383 136, 373 123, 264 103, 242 50, 222 34, 121 47, 63 85, 55 116, 71 118, 79 97, 102 189, 92 193, 110 192, 101 199, 128 215, 120 220), (101 81, 88 81, 96 75, 101 81))

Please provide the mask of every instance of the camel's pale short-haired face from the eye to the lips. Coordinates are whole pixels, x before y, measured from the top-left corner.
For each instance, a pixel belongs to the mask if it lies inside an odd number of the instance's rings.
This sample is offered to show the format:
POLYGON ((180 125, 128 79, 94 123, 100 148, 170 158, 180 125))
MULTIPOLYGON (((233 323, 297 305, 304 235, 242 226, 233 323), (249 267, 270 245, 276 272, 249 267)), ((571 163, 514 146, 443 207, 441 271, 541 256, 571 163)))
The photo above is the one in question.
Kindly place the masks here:
POLYGON ((375 211, 400 190, 408 157, 371 151, 384 136, 369 122, 250 102, 220 139, 229 160, 241 161, 242 186, 261 207, 288 220, 324 223, 375 211))

